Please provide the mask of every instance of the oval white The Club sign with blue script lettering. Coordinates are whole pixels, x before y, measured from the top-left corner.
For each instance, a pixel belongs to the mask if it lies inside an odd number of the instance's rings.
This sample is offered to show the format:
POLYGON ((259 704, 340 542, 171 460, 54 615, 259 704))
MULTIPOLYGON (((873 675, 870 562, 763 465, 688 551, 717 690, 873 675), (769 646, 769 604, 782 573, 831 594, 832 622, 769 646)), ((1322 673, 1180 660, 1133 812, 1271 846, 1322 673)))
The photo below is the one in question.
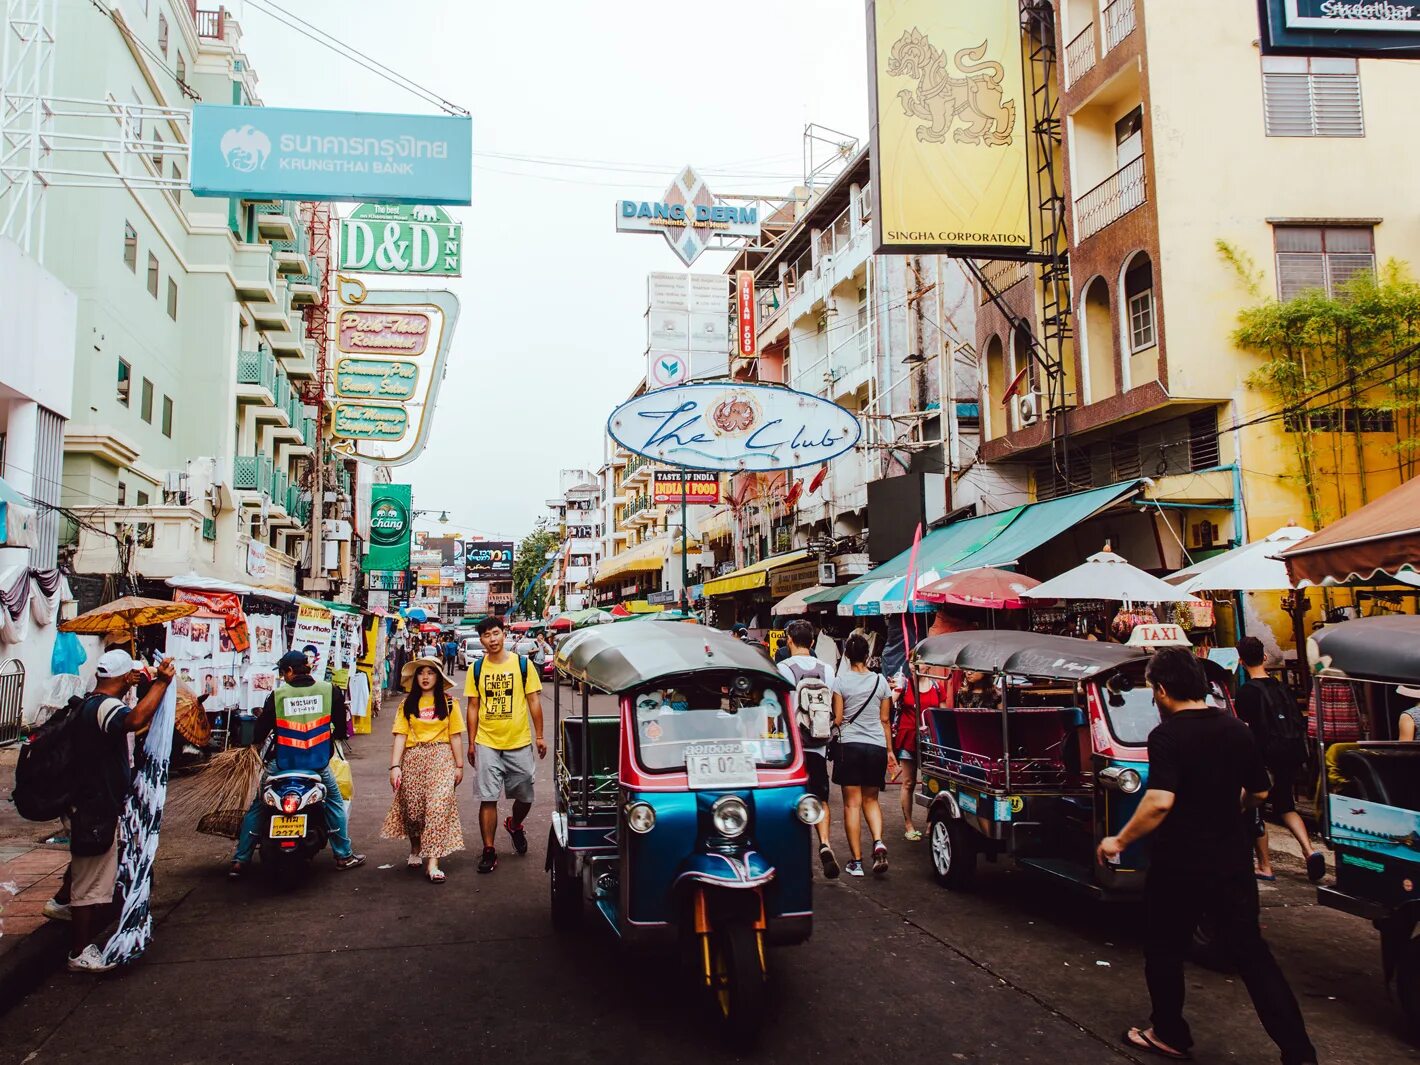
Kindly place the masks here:
POLYGON ((849 410, 772 385, 680 385, 612 412, 616 443, 692 470, 790 470, 851 452, 862 426, 849 410))

